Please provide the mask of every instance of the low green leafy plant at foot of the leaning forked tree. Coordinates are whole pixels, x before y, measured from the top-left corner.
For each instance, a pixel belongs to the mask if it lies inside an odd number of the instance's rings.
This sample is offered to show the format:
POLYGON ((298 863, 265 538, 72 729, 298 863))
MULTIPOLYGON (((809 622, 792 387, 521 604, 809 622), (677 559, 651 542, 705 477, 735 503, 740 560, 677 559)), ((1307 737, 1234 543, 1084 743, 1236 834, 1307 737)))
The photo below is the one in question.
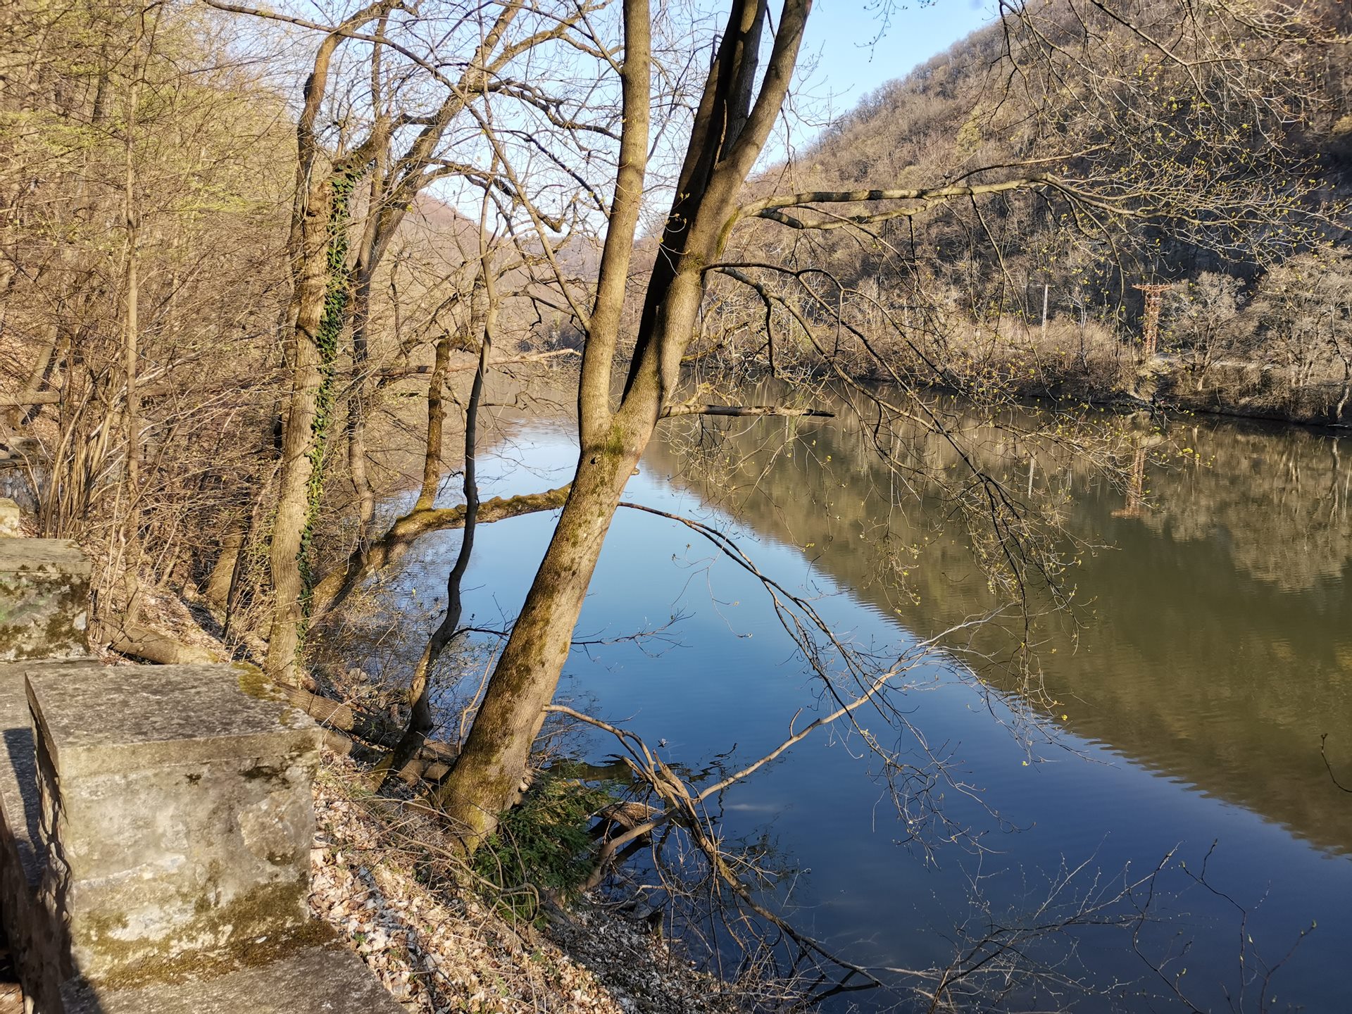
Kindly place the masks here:
POLYGON ((614 798, 584 783, 541 777, 475 853, 475 872, 504 915, 535 919, 539 895, 572 900, 595 863, 591 818, 614 798))

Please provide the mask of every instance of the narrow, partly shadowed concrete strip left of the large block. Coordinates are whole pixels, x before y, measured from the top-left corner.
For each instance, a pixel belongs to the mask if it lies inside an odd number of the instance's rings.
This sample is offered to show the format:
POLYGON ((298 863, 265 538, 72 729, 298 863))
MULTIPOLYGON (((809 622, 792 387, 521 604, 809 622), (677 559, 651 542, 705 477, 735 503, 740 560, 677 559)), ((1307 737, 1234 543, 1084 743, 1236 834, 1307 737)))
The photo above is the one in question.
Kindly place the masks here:
POLYGON ((73 675, 97 662, 0 665, 0 922, 11 957, 38 1011, 57 1010, 65 933, 38 903, 41 800, 24 673, 73 675))

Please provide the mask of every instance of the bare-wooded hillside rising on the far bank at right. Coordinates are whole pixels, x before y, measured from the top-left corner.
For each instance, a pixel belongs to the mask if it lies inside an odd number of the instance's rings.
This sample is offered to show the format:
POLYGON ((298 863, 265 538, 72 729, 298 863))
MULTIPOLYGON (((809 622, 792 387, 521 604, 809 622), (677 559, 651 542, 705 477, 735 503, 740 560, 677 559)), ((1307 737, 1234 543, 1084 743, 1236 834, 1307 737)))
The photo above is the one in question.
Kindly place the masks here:
MULTIPOLYGON (((1183 32, 1165 5, 1134 8, 1129 24, 1060 0, 987 26, 753 188, 955 188, 875 201, 867 223, 799 223, 792 246, 795 268, 829 272, 814 284, 853 299, 861 331, 911 376, 1347 422, 1352 11, 1305 4, 1307 35, 1284 50, 1255 27, 1230 39, 1234 53, 1213 39, 1157 62, 1153 45, 1183 32), (1209 110, 1184 97, 1190 82, 1220 96, 1238 51, 1267 66, 1247 99, 1232 89, 1209 110), (1068 188, 1033 185, 1044 174, 1068 188), (1029 185, 1006 188, 1014 176, 1029 185), (1096 201, 1073 201, 1083 184, 1102 187, 1096 201), (1167 285, 1153 362, 1142 284, 1167 285)), ((1288 8, 1259 9, 1255 26, 1288 8)), ((748 260, 786 249, 783 230, 758 235, 748 260)), ((856 352, 859 370, 887 375, 856 352)))

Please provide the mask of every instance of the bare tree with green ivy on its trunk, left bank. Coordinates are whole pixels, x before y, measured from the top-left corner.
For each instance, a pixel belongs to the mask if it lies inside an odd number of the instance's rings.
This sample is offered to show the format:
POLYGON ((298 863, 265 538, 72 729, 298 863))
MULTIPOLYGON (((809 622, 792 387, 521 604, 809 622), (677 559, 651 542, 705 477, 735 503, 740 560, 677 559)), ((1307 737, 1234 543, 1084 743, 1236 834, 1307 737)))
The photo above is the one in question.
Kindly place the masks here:
MULTIPOLYGON (((346 435, 360 537, 365 541, 375 508, 365 475, 364 427, 376 270, 411 203, 425 188, 449 176, 477 178, 480 185, 493 183, 483 168, 448 158, 443 142, 464 118, 479 126, 481 114, 473 110, 476 100, 511 89, 507 72, 514 62, 568 37, 594 7, 589 0, 449 3, 445 9, 429 8, 407 19, 403 12, 396 16, 391 0, 377 0, 337 24, 324 26, 223 0, 211 3, 219 9, 322 32, 296 123, 299 158, 288 239, 292 295, 283 334, 291 396, 283 425, 280 491, 270 542, 274 610, 266 665, 274 679, 295 683, 314 585, 311 542, 323 493, 341 343, 345 338, 352 343, 346 435), (396 32, 396 27, 402 31, 396 32), (443 38, 446 32, 449 38, 443 38), (448 76, 437 49, 461 42, 466 55, 460 72, 448 76), (342 91, 334 95, 334 61, 343 46, 361 47, 368 61, 370 85, 362 108, 353 108, 342 91), (402 62, 389 66, 395 59, 402 62), (422 99, 425 88, 439 92, 441 97, 422 99), (337 131, 326 123, 335 115, 335 101, 337 131), (362 180, 365 222, 357 228, 353 223, 362 180)), ((516 88, 526 101, 538 101, 523 87, 516 88)))

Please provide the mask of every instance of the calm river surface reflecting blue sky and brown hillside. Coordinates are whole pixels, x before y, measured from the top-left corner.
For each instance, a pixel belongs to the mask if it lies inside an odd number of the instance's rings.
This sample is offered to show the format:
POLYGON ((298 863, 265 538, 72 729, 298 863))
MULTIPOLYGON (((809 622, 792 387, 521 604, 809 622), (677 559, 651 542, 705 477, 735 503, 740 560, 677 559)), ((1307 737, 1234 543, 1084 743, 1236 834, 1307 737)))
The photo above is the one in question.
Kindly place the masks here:
MULTIPOLYGON (((566 480, 568 426, 508 431, 485 495, 566 480)), ((1064 911, 1095 875, 1140 876, 1176 849, 1159 922, 1138 942, 1153 961, 1179 959, 1169 975, 1187 968, 1179 982, 1198 1009, 1352 1011, 1352 795, 1320 754, 1328 734, 1352 784, 1352 441, 1190 422, 1136 464, 1134 481, 1114 485, 1073 461, 1034 460, 1034 502, 1060 504, 1067 527, 1099 546, 1073 573, 1078 638, 1065 619, 1036 631, 1044 692, 1019 696, 999 665, 980 668, 984 683, 960 679, 940 658, 909 695, 911 723, 976 790, 979 802, 946 791, 942 806, 983 850, 907 845, 876 765, 857 740, 830 734, 729 791, 725 826, 802 871, 775 895, 781 911, 871 967, 946 964, 955 923, 986 918, 973 884, 982 904, 1015 919, 1060 869, 1083 864, 1064 911), (1201 869, 1209 852, 1207 882, 1233 903, 1178 868, 1201 869), (1260 996, 1255 969, 1295 944, 1260 996)), ((904 650, 996 604, 946 506, 898 491, 844 422, 673 427, 627 499, 727 531, 859 644, 904 650)), ((545 515, 480 530, 466 579, 477 622, 519 604, 550 526, 545 515)), ((430 541, 403 580, 435 596, 456 541, 430 541)), ((819 703, 758 584, 715 556, 683 526, 622 510, 579 637, 680 619, 668 638, 575 649, 561 688, 691 767, 729 750, 752 760, 819 703)), ((1006 657, 1018 630, 987 630, 975 646, 1006 657)), ((603 740, 591 749, 598 761, 611 752, 603 740)), ((1032 952, 1103 991, 1078 1009, 1186 1009, 1161 999, 1121 930, 1032 952)))

